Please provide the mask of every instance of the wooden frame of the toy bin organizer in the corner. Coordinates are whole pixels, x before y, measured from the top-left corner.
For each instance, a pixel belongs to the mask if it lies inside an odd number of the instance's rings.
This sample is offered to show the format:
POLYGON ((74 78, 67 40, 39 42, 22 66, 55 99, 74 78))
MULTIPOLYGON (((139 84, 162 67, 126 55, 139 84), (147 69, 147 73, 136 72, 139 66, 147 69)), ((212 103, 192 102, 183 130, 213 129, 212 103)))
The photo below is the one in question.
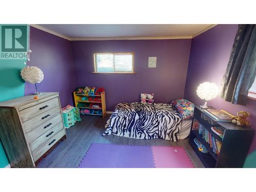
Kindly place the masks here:
POLYGON ((76 94, 76 92, 74 91, 73 94, 74 94, 74 101, 75 101, 76 108, 102 111, 101 114, 87 113, 84 115, 97 115, 97 116, 102 116, 103 118, 105 117, 106 115, 105 92, 102 92, 100 95, 91 95, 91 94, 87 95, 87 94, 76 94), (101 101, 82 100, 82 97, 97 97, 97 98, 101 98, 101 101), (79 103, 100 104, 101 108, 92 108, 90 106, 77 106, 79 103))

